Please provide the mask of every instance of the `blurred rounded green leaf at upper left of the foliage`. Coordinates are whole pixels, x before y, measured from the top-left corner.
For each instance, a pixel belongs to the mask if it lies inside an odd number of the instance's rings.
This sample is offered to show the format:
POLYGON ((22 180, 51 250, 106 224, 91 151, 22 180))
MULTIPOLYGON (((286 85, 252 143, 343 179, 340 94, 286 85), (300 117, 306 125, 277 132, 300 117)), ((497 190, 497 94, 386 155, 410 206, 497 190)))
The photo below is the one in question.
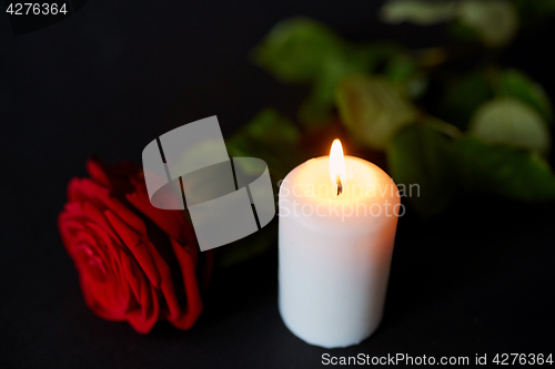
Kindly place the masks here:
POLYGON ((314 80, 327 55, 341 52, 343 41, 325 25, 307 18, 279 22, 253 50, 254 63, 281 81, 314 80))

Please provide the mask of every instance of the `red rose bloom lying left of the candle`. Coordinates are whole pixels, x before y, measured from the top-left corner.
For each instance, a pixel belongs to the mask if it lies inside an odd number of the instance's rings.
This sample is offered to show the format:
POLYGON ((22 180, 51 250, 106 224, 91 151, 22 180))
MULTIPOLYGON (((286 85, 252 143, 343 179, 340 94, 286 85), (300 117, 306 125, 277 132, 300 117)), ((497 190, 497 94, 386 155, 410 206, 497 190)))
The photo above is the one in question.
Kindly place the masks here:
POLYGON ((84 300, 99 317, 149 332, 168 319, 189 329, 202 310, 211 253, 200 253, 182 211, 150 204, 144 176, 131 163, 87 162, 91 178, 73 178, 58 218, 84 300))

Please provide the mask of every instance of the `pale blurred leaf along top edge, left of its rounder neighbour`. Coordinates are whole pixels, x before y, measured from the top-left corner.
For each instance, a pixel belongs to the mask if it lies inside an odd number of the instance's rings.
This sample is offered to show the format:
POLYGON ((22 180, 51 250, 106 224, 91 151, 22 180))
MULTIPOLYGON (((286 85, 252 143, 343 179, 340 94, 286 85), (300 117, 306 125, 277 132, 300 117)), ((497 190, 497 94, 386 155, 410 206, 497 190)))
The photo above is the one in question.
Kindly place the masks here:
POLYGON ((456 14, 456 1, 390 0, 380 10, 386 23, 412 22, 430 25, 446 22, 456 14))

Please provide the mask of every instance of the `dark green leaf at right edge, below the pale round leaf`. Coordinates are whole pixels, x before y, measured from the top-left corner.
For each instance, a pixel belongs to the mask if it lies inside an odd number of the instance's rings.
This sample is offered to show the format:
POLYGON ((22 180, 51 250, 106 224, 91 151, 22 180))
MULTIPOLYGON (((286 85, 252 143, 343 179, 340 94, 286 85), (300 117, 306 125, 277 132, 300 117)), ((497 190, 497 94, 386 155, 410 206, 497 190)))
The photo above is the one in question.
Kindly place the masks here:
POLYGON ((456 143, 460 177, 466 189, 518 201, 555 199, 555 176, 538 154, 491 145, 472 135, 456 143))

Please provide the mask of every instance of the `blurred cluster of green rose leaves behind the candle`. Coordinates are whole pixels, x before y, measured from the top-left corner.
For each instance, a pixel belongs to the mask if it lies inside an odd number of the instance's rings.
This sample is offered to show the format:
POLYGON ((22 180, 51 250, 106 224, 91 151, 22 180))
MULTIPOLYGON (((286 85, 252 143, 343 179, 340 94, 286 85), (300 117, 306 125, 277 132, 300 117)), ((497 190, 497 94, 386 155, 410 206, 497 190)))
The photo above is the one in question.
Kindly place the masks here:
POLYGON ((265 110, 228 141, 230 154, 263 158, 275 183, 310 156, 315 132, 340 132, 352 151, 382 152, 397 184, 420 185, 418 196, 407 201, 423 216, 441 213, 460 192, 555 199, 546 160, 551 101, 524 72, 491 58, 529 19, 553 14, 551 0, 385 2, 384 22, 446 23, 461 50, 480 60, 465 72, 448 69, 456 50, 357 44, 312 19, 283 20, 252 60, 281 82, 311 88, 299 123, 265 110))

